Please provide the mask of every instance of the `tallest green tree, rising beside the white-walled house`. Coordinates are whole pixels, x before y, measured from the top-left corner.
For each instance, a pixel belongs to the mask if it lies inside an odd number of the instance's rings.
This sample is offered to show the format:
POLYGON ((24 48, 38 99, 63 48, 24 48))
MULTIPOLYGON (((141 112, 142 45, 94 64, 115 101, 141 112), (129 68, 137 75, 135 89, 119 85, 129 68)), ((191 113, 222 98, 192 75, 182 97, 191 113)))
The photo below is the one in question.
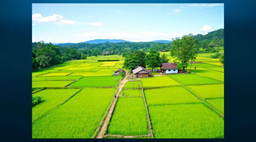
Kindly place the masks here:
POLYGON ((185 72, 185 68, 188 67, 188 61, 196 57, 198 54, 198 40, 193 39, 193 34, 184 35, 181 38, 172 39, 172 47, 170 49, 171 56, 176 58, 174 61, 179 60, 178 68, 182 68, 185 72))

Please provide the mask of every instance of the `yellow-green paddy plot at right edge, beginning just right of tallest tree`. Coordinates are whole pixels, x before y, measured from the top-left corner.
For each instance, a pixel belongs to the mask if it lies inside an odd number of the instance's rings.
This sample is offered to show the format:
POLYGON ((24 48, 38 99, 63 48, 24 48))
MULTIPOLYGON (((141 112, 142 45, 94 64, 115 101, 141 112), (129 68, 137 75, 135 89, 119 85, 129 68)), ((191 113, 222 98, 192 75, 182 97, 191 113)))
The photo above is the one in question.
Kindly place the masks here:
POLYGON ((212 71, 205 68, 196 68, 196 71, 194 72, 196 74, 224 82, 224 72, 212 71))

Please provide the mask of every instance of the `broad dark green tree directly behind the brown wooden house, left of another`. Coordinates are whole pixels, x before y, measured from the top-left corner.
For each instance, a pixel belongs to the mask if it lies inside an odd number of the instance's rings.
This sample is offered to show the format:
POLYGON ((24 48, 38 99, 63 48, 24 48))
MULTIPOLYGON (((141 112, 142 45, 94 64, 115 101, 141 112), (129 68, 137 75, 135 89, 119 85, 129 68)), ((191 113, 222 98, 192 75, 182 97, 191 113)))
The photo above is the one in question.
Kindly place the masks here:
POLYGON ((124 69, 135 69, 137 66, 145 67, 146 53, 143 51, 134 51, 132 54, 127 55, 124 59, 124 69))

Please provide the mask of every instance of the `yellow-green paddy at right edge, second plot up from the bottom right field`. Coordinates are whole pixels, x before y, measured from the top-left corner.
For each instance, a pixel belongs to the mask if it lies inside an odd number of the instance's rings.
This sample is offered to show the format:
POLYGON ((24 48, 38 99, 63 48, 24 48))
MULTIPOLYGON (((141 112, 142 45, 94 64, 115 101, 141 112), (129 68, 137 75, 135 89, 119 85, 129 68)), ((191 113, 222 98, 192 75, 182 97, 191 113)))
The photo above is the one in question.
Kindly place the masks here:
POLYGON ((224 84, 191 85, 187 87, 204 99, 224 97, 224 84))

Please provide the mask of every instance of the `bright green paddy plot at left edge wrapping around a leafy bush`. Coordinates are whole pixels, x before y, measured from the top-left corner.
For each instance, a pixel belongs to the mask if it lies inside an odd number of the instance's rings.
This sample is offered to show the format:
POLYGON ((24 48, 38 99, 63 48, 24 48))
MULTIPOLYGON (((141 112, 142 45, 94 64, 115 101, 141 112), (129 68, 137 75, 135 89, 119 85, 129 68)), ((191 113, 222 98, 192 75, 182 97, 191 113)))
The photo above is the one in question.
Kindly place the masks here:
POLYGON ((32 107, 32 122, 49 112, 52 108, 66 101, 79 90, 80 89, 45 89, 35 93, 34 95, 40 95, 43 98, 39 104, 32 107))

